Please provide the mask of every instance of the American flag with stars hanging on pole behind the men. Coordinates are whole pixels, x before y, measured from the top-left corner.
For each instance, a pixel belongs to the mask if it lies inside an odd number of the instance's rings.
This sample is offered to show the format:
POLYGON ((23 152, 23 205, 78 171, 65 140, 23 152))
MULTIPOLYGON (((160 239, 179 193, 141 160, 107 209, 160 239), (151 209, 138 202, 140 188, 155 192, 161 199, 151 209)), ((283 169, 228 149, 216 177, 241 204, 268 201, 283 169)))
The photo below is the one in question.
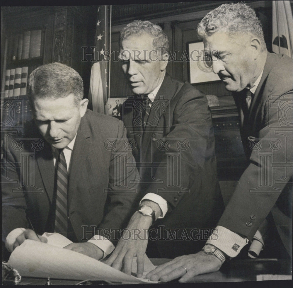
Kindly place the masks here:
POLYGON ((95 59, 91 68, 90 89, 88 93, 89 105, 93 111, 103 113, 107 101, 107 62, 105 61, 105 51, 108 42, 108 7, 101 5, 98 7, 95 35, 95 59))

